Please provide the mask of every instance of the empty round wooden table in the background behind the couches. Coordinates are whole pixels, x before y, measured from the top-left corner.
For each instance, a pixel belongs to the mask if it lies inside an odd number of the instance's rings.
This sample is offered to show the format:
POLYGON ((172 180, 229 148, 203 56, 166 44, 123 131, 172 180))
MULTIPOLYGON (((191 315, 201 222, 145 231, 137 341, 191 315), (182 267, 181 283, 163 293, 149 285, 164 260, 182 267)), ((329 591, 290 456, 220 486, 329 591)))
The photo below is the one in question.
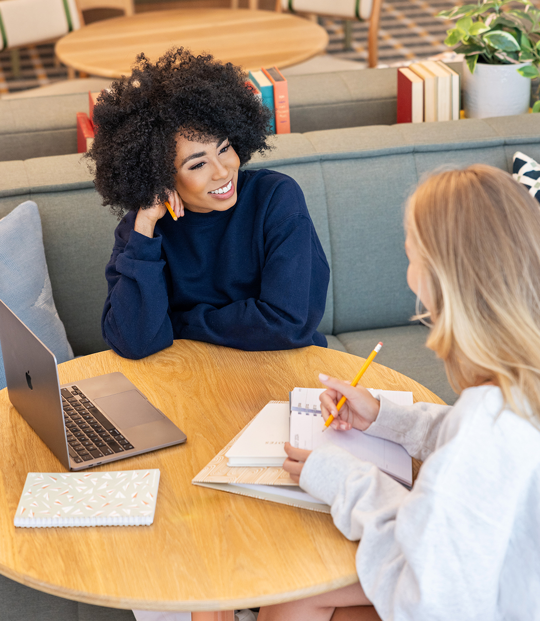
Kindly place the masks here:
POLYGON ((92 75, 130 75, 135 57, 155 61, 171 47, 190 48, 246 70, 287 67, 323 52, 328 34, 294 15, 248 9, 153 11, 94 22, 56 43, 58 58, 92 75))

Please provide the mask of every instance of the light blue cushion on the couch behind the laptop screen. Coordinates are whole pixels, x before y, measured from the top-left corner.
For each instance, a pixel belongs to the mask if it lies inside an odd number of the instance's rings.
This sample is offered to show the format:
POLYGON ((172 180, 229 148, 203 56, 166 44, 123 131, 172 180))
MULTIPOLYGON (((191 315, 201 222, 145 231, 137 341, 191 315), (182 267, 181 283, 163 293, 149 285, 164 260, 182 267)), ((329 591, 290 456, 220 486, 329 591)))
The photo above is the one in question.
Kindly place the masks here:
MULTIPOLYGON (((73 358, 56 312, 41 219, 33 201, 21 203, 0 220, 0 299, 53 351, 59 363, 73 358)), ((0 389, 5 387, 0 358, 0 389)))

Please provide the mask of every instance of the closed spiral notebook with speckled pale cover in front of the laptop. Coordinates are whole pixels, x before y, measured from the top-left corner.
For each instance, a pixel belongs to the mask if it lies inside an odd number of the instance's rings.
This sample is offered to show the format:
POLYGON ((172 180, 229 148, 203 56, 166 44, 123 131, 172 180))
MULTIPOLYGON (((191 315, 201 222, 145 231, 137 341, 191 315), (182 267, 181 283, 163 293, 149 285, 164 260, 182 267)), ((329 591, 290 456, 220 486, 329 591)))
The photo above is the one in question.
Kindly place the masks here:
POLYGON ((30 472, 16 526, 148 526, 154 521, 160 471, 30 472))

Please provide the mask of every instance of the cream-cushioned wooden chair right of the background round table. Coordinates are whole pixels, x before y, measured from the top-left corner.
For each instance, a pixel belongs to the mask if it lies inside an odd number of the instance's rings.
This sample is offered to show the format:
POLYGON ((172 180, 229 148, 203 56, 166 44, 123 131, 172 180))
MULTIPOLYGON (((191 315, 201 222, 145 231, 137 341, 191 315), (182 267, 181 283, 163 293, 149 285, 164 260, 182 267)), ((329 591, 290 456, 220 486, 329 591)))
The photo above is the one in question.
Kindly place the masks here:
POLYGON ((276 0, 276 11, 338 17, 345 22, 345 47, 350 47, 353 20, 369 21, 367 58, 370 67, 379 59, 379 20, 382 0, 276 0))

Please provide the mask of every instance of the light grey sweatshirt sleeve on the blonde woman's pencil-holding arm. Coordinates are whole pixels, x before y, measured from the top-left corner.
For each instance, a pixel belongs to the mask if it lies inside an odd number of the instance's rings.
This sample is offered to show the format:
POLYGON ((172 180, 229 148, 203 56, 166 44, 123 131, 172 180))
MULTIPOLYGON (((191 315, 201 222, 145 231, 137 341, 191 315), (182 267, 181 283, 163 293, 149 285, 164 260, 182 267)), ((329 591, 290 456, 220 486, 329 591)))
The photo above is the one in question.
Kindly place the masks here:
POLYGON ((379 414, 364 433, 397 442, 410 456, 424 461, 435 450, 439 428, 451 409, 423 402, 398 406, 380 397, 379 414))

